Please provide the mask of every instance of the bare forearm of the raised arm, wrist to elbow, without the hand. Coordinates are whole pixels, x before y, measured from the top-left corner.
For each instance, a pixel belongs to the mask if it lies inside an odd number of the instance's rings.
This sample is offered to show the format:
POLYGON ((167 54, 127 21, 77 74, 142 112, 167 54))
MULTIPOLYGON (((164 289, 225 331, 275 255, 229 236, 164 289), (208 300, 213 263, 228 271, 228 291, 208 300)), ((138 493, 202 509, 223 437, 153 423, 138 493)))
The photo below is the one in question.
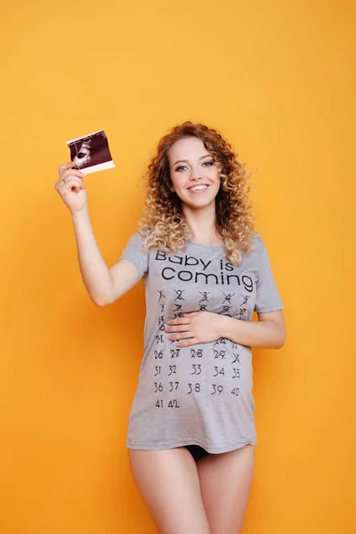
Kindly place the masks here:
POLYGON ((79 269, 88 294, 98 306, 112 301, 113 281, 104 262, 96 239, 87 208, 72 215, 77 239, 79 269))

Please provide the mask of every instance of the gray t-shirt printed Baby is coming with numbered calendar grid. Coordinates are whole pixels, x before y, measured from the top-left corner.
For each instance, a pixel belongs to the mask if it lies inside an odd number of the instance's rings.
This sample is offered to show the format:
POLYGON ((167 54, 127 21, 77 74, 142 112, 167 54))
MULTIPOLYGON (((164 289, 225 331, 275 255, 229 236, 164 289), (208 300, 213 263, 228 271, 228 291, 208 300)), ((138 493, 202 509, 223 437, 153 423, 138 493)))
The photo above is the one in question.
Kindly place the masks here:
POLYGON ((177 348, 166 321, 184 312, 207 311, 236 320, 284 305, 260 237, 236 267, 224 245, 190 239, 177 255, 143 250, 139 232, 121 258, 144 277, 144 355, 129 417, 128 449, 200 445, 210 453, 255 444, 251 348, 220 338, 177 348))

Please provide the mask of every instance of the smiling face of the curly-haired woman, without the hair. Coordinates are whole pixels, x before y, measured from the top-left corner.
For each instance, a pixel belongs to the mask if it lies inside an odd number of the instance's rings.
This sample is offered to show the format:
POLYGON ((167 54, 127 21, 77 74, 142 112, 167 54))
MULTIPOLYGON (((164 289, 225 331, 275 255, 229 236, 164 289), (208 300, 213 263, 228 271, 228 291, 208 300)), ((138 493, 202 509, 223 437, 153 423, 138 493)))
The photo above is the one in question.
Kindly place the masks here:
POLYGON ((198 137, 183 137, 169 150, 169 167, 174 191, 182 208, 201 209, 215 202, 220 189, 219 169, 198 137))

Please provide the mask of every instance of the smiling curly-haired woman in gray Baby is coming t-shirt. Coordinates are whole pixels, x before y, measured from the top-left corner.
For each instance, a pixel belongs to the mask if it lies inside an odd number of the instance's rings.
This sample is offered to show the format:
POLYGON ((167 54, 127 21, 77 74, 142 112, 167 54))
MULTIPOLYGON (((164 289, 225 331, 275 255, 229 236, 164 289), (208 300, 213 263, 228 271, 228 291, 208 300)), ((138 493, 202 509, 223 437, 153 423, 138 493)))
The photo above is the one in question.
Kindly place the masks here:
POLYGON ((93 302, 113 303, 145 280, 145 351, 127 437, 138 490, 160 534, 237 534, 255 459, 251 347, 285 342, 247 172, 214 129, 175 126, 150 163, 140 229, 108 269, 85 174, 73 165, 60 167, 56 189, 93 302))

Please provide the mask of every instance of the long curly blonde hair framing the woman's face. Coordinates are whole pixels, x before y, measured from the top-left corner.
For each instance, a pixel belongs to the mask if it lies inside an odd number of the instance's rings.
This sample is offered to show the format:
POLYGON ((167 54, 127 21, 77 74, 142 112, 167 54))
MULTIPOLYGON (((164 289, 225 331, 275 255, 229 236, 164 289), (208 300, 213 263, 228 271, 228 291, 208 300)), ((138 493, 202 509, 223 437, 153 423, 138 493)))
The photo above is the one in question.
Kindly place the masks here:
POLYGON ((172 190, 169 150, 183 137, 198 137, 214 158, 220 173, 221 186, 215 198, 216 231, 223 239, 226 257, 233 265, 241 263, 242 254, 254 247, 255 217, 248 197, 250 174, 231 150, 222 135, 206 125, 190 121, 176 125, 158 143, 143 177, 146 199, 139 231, 145 239, 146 251, 166 248, 176 254, 186 246, 191 233, 182 213, 182 202, 172 190))

